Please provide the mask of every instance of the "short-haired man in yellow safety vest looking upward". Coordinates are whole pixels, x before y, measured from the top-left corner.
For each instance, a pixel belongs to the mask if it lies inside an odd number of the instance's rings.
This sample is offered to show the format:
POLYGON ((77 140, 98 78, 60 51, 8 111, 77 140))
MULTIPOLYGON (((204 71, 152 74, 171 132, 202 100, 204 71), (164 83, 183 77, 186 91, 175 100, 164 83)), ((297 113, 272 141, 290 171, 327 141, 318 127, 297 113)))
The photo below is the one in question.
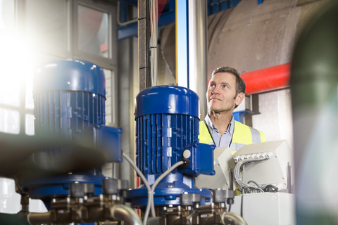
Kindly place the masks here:
POLYGON ((262 131, 234 121, 232 112, 245 97, 245 83, 239 72, 230 67, 213 71, 206 91, 208 115, 199 123, 199 142, 215 147, 229 146, 234 154, 251 143, 266 141, 262 131))

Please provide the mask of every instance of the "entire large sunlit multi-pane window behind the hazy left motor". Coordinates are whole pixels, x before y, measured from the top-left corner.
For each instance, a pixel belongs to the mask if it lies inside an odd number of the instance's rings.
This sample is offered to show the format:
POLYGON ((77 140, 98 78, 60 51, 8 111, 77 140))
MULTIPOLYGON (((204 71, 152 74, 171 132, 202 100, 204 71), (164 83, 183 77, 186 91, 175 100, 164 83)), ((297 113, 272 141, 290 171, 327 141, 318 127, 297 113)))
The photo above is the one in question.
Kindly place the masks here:
POLYGON ((0 131, 34 135, 34 70, 59 58, 104 69, 106 123, 116 126, 113 15, 115 6, 97 1, 0 0, 0 131))

